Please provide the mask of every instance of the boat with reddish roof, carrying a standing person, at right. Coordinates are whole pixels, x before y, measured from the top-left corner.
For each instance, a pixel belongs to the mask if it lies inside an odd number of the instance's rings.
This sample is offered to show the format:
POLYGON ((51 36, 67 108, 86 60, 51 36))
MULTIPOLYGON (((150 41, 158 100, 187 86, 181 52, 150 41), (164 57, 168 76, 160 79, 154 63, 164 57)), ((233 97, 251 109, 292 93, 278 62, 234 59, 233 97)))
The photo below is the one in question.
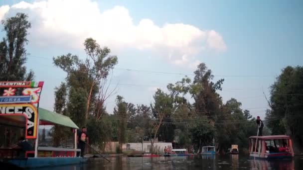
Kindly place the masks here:
POLYGON ((254 159, 292 159, 294 150, 292 139, 287 135, 249 137, 250 158, 254 159))

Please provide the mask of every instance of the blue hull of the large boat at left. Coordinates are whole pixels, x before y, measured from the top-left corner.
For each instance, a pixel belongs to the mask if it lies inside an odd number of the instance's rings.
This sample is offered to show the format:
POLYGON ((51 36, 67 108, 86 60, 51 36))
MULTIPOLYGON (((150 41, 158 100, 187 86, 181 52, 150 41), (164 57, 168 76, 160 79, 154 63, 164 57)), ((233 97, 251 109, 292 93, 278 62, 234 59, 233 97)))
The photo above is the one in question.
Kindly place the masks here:
POLYGON ((13 159, 5 161, 8 164, 20 168, 40 168, 40 167, 55 167, 65 165, 83 164, 88 161, 88 158, 81 157, 54 157, 54 158, 28 158, 28 159, 13 159))

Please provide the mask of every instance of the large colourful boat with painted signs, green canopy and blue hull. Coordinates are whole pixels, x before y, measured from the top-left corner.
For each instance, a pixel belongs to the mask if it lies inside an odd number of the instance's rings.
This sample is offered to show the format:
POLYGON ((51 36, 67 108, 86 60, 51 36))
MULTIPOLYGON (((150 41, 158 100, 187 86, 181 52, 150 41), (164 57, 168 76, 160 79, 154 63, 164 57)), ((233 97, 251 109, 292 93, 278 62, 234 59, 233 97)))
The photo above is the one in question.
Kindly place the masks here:
MULTIPOLYGON (((0 96, 0 124, 24 130, 26 140, 33 142, 33 151, 26 151, 25 157, 17 157, 18 149, 0 148, 0 163, 19 168, 40 168, 83 164, 89 158, 77 157, 77 130, 79 127, 67 116, 39 108, 43 82, 0 82, 4 88, 0 96), (22 91, 16 93, 15 91, 22 91), (21 94, 21 95, 20 95, 21 94), (59 125, 71 128, 73 146, 54 148, 39 146, 40 125, 59 125)), ((0 134, 3 135, 3 134, 0 134)), ((79 154, 80 155, 80 154, 79 154)))

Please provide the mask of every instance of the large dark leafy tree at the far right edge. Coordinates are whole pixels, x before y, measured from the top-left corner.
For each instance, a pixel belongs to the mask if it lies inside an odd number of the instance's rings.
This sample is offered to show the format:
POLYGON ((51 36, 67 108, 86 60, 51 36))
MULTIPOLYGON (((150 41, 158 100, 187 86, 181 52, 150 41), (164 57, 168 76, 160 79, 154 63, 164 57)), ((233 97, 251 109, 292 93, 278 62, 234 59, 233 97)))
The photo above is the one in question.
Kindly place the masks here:
POLYGON ((267 111, 268 127, 276 135, 288 134, 292 137, 295 152, 303 151, 303 67, 288 66, 271 86, 267 111))

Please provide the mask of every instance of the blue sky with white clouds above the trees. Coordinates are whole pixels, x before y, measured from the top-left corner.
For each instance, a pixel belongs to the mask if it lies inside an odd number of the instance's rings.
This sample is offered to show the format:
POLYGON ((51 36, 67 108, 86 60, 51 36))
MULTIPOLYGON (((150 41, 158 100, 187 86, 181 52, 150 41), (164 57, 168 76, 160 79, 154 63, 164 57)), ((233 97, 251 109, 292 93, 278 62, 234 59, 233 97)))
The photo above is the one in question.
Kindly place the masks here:
MULTIPOLYGON (((26 67, 45 82, 40 107, 50 110, 54 88, 66 77, 52 57, 86 58, 88 37, 118 56, 110 88, 134 104, 150 104, 156 88, 193 78, 203 62, 214 81, 225 80, 224 102, 236 98, 264 118, 263 92, 270 96, 283 68, 303 65, 302 0, 0 1, 0 19, 17 12, 29 16, 26 67)), ((109 113, 115 98, 106 102, 109 113)))

